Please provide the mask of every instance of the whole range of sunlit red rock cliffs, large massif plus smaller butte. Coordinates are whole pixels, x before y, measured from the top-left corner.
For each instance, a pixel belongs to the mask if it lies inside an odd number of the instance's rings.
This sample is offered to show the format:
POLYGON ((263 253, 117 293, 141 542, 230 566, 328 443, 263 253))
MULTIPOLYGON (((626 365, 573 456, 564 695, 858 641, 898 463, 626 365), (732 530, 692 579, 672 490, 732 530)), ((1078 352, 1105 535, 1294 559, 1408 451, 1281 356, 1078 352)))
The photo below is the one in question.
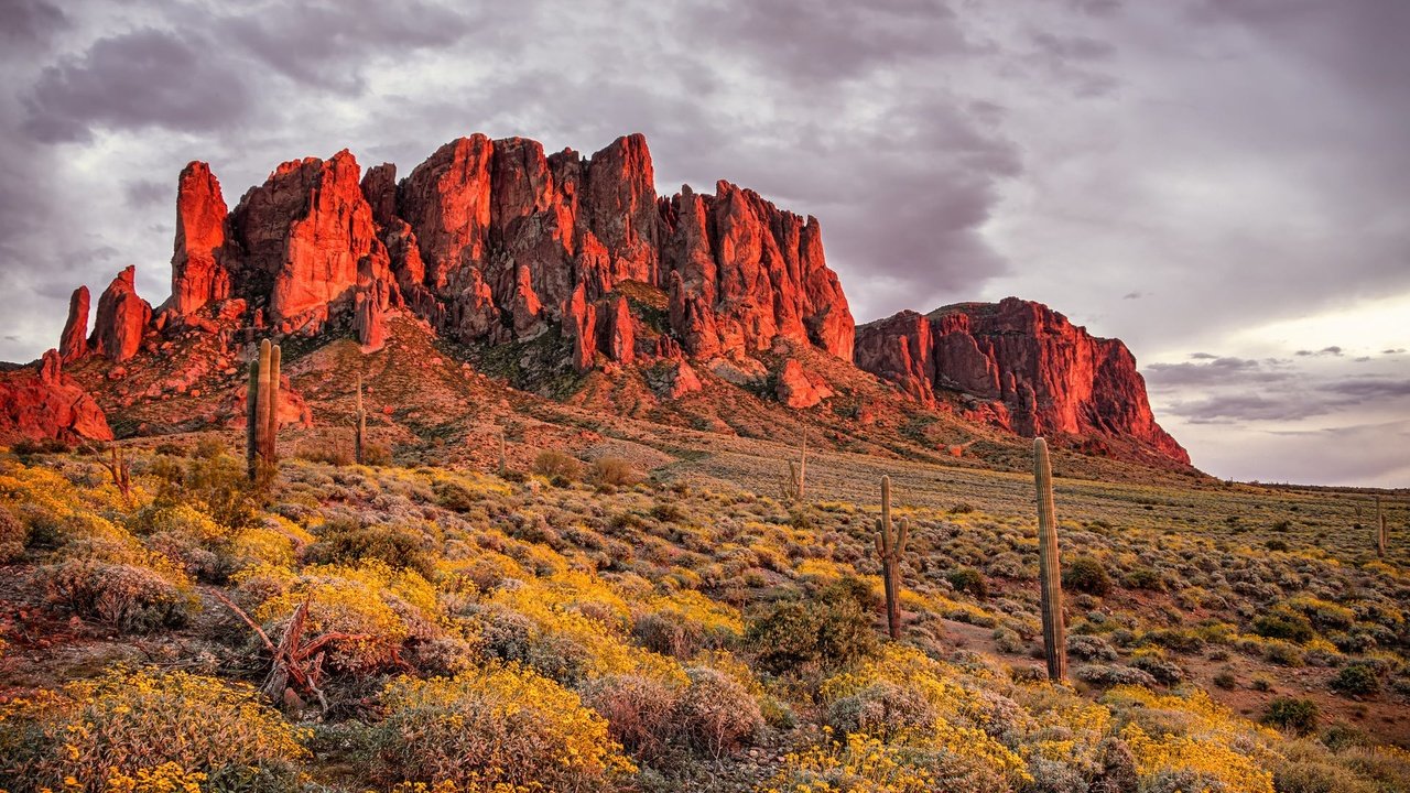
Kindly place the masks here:
POLYGON ((839 377, 885 395, 854 360, 922 406, 967 394, 970 418, 1010 432, 1131 439, 1187 463, 1120 341, 1021 301, 901 313, 859 337, 815 219, 723 181, 713 195, 658 196, 642 135, 585 158, 477 134, 402 179, 340 151, 279 165, 233 209, 192 162, 171 267, 155 312, 124 270, 99 296, 92 333, 87 289, 73 293, 56 356, 99 375, 85 382, 110 409, 233 394, 238 358, 261 337, 352 334, 374 353, 396 341, 393 327, 415 326, 470 349, 513 344, 546 378, 629 370, 654 401, 711 382, 795 411, 857 401, 839 377), (161 357, 161 381, 127 377, 145 364, 114 367, 141 354, 161 357))

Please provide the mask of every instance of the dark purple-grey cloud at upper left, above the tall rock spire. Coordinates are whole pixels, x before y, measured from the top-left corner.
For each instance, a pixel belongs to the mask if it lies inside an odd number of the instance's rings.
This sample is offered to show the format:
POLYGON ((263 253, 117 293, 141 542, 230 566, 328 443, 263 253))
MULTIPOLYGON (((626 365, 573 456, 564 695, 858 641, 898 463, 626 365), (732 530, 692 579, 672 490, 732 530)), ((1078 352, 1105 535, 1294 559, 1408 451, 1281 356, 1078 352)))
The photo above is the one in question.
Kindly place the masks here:
POLYGON ((24 130, 44 143, 89 141, 96 128, 209 133, 251 103, 223 48, 192 34, 141 28, 102 38, 45 68, 25 99, 24 130))

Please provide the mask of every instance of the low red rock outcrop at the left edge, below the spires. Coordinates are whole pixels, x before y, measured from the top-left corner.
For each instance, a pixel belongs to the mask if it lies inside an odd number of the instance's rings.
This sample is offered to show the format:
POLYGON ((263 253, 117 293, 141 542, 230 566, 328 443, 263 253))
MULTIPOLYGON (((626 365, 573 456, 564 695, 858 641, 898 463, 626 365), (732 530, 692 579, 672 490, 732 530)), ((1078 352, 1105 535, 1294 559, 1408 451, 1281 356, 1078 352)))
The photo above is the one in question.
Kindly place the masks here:
POLYGON ((37 367, 0 374, 0 443, 16 440, 111 440, 93 396, 63 374, 58 350, 37 367))

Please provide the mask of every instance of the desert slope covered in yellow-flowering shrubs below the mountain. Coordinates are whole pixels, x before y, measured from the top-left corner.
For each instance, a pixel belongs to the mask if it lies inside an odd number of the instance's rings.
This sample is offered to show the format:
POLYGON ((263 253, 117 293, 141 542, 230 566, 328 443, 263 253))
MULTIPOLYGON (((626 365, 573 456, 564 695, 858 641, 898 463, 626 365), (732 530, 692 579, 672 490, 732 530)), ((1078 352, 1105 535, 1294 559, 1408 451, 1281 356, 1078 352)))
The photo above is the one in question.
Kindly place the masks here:
POLYGON ((1410 789, 1403 500, 1379 559, 1365 494, 1059 480, 1053 684, 1022 474, 829 452, 788 504, 778 443, 313 439, 254 487, 234 443, 127 444, 125 495, 107 452, 0 454, 0 789, 1410 789))

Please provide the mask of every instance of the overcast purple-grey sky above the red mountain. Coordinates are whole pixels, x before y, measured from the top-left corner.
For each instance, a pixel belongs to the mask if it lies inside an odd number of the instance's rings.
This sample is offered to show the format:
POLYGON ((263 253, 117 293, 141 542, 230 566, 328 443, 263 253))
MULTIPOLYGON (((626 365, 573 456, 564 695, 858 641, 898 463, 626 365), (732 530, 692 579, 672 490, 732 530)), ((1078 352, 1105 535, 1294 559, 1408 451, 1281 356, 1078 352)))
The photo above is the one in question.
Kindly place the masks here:
POLYGON ((1410 484, 1404 0, 0 0, 0 360, 348 148, 644 133, 663 193, 815 214, 859 322, 1007 295, 1122 339, 1224 478, 1410 484))

